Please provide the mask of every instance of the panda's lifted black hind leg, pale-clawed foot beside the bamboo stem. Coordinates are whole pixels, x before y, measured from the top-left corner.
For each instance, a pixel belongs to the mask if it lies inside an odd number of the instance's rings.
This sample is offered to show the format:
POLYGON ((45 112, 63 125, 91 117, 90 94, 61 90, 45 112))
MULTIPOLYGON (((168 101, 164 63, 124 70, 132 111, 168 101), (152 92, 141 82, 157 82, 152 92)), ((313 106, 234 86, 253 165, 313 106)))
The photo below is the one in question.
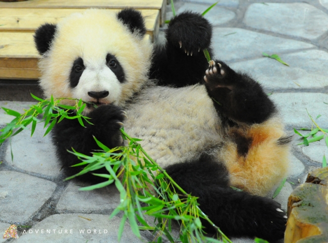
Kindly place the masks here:
POLYGON ((216 110, 234 121, 261 123, 276 111, 253 78, 235 72, 223 61, 211 60, 203 78, 216 110))

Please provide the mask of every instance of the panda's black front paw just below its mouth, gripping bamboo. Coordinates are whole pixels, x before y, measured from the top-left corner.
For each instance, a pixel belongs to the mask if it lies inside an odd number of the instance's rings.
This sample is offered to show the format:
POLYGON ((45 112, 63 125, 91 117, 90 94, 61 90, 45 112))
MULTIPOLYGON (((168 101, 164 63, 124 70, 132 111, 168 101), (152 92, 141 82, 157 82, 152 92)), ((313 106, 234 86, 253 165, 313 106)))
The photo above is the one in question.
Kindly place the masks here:
POLYGON ((88 126, 90 133, 109 148, 123 145, 120 129, 127 118, 126 112, 121 107, 114 105, 102 105, 90 113, 88 126))

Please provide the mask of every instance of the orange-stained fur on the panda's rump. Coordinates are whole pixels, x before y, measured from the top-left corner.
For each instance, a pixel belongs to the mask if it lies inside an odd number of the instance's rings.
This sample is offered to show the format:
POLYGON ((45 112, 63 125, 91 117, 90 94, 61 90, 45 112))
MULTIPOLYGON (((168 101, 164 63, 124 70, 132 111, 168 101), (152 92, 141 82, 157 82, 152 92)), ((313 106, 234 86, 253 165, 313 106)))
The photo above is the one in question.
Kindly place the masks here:
POLYGON ((227 142, 222 150, 231 186, 265 196, 286 177, 289 170, 289 146, 277 143, 284 136, 283 126, 277 118, 272 118, 239 130, 250 137, 252 143, 246 156, 237 153, 234 142, 227 142))

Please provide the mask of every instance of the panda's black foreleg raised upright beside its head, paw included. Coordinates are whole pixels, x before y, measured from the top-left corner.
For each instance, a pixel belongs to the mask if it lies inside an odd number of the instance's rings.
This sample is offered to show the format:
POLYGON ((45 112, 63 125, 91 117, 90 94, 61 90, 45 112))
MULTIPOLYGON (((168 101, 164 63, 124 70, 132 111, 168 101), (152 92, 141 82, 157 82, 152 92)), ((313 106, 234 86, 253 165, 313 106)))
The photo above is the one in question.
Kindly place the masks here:
POLYGON ((184 12, 172 18, 167 42, 155 46, 150 78, 159 85, 184 87, 200 83, 208 66, 203 49, 210 50, 212 27, 198 13, 184 12))

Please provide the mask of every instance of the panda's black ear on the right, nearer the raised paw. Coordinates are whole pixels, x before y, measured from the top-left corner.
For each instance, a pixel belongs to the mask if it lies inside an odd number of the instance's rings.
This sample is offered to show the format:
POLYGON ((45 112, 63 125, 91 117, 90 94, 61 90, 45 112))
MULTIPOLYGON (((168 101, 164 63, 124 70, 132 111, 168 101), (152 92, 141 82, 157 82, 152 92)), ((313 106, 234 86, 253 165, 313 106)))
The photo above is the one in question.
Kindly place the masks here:
POLYGON ((122 20, 123 23, 128 26, 131 33, 134 33, 136 30, 138 30, 141 36, 146 34, 144 19, 140 11, 134 9, 124 9, 118 13, 117 18, 122 20))

